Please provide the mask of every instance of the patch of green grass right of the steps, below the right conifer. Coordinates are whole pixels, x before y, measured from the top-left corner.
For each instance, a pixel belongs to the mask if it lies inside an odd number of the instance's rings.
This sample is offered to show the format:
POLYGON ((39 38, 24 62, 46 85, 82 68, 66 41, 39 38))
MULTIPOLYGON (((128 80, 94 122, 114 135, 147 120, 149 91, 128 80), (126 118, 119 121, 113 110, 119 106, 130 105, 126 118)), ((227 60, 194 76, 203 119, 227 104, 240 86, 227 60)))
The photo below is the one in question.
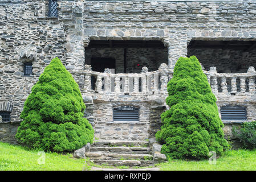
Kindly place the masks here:
POLYGON ((209 164, 208 160, 186 161, 169 160, 157 164, 164 171, 255 171, 256 150, 228 150, 224 156, 209 164))

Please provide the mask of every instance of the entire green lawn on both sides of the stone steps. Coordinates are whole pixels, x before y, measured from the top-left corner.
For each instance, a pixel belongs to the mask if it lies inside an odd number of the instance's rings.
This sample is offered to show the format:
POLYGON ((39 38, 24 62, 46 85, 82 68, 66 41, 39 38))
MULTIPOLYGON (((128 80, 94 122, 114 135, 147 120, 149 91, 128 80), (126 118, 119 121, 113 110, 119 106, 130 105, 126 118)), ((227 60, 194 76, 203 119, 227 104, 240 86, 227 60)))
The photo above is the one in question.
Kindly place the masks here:
MULTIPOLYGON (((0 142, 0 171, 3 170, 90 170, 95 166, 84 159, 74 159, 72 154, 56 154, 46 152, 45 164, 38 164, 38 151, 26 150, 21 146, 0 142)), ((98 166, 99 167, 99 166, 98 166)), ((105 167, 105 166, 104 166, 105 167)), ((226 151, 224 156, 217 159, 217 163, 209 164, 208 160, 186 161, 169 160, 166 163, 157 164, 161 170, 255 170, 256 150, 232 150, 226 151)), ((120 167, 121 168, 121 167, 120 167)))

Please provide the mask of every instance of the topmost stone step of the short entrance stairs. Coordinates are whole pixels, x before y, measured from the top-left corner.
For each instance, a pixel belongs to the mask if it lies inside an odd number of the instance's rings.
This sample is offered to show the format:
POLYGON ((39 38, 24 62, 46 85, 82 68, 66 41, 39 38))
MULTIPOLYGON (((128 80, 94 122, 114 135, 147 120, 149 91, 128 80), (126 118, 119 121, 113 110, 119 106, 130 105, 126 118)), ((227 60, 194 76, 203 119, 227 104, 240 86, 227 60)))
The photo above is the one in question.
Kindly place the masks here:
POLYGON ((145 140, 95 140, 91 147, 148 147, 149 141, 145 140))

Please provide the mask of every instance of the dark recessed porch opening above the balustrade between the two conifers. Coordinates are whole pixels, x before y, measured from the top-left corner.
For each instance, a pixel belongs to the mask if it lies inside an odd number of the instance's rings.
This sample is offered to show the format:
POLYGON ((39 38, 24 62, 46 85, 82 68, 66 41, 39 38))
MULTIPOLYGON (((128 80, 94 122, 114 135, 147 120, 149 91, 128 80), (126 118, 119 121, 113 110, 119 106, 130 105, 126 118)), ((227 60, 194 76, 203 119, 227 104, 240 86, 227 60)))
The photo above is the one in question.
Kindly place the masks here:
POLYGON ((143 67, 151 72, 168 64, 167 48, 159 40, 91 40, 85 57, 98 72, 111 68, 114 73, 140 73, 143 67))

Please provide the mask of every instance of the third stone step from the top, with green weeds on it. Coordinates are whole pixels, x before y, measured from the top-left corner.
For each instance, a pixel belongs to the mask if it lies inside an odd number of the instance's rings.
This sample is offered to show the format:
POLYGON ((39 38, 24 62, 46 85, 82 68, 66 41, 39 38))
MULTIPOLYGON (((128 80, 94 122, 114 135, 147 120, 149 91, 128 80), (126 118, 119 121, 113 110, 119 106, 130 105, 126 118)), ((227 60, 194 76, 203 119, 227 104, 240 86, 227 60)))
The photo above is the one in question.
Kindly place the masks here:
POLYGON ((86 152, 91 160, 153 160, 150 154, 116 154, 106 152, 86 152))

